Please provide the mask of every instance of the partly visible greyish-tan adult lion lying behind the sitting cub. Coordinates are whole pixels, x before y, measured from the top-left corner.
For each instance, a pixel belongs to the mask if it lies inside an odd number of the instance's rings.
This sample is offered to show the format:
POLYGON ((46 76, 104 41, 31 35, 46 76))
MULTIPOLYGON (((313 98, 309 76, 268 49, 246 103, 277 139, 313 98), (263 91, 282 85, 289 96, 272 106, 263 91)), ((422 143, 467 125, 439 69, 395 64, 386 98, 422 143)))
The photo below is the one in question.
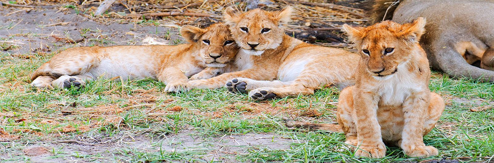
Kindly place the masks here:
POLYGON ((493 0, 400 0, 390 7, 393 1, 375 1, 374 23, 384 15, 384 20, 397 23, 424 17, 426 33, 420 45, 434 69, 494 82, 493 0))

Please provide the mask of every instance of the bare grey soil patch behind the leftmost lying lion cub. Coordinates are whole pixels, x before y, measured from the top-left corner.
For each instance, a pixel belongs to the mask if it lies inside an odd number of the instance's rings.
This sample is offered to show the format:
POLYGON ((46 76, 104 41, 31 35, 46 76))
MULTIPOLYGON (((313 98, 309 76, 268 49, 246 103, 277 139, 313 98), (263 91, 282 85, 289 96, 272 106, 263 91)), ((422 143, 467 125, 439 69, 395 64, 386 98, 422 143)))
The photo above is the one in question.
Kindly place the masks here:
MULTIPOLYGON (((19 8, 2 7, 0 15, 17 10, 19 8)), ((22 55, 57 52, 73 46, 173 44, 170 40, 179 37, 176 28, 119 21, 98 23, 75 12, 60 11, 55 6, 37 6, 30 12, 0 16, 0 37, 8 38, 0 43, 16 46, 4 52, 22 55)))

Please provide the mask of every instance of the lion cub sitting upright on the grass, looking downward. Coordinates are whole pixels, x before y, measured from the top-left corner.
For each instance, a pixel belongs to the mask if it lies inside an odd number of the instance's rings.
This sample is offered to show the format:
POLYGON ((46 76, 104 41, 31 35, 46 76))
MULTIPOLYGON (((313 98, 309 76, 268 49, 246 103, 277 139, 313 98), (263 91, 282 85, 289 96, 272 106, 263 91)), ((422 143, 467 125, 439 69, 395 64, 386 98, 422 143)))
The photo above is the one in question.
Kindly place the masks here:
POLYGON ((345 143, 358 148, 356 156, 383 158, 384 142, 410 157, 438 154, 422 137, 445 107, 443 98, 429 90, 429 64, 418 44, 424 25, 419 17, 403 25, 384 21, 366 28, 343 26, 362 57, 356 84, 341 91, 337 111, 345 143))

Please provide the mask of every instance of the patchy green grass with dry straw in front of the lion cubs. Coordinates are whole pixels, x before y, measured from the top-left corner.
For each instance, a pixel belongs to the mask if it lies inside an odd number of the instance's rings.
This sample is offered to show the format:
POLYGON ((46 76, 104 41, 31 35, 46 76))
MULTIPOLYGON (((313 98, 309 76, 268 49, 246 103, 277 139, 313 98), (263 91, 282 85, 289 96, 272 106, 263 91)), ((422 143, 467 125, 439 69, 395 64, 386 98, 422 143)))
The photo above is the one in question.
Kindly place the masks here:
POLYGON ((433 72, 430 88, 446 99, 447 106, 424 142, 438 148, 439 156, 408 158, 401 149, 388 147, 384 159, 367 159, 343 148, 343 133, 284 126, 283 117, 334 122, 336 107, 331 102, 339 94, 335 88, 264 102, 225 89, 166 94, 163 83, 148 79, 97 80, 80 90, 40 91, 29 87, 29 75, 53 54, 31 55, 30 59, 0 55, 0 129, 20 136, 0 142, 1 162, 35 162, 23 152, 32 145, 47 148, 43 159, 54 162, 391 163, 443 157, 484 162, 492 161, 494 155, 492 109, 470 111, 493 105, 492 83, 433 72), (300 116, 313 110, 321 114, 300 116), (234 138, 266 134, 269 137, 252 140, 262 140, 260 144, 243 144, 245 138, 234 138), (280 142, 287 147, 270 145, 280 142))

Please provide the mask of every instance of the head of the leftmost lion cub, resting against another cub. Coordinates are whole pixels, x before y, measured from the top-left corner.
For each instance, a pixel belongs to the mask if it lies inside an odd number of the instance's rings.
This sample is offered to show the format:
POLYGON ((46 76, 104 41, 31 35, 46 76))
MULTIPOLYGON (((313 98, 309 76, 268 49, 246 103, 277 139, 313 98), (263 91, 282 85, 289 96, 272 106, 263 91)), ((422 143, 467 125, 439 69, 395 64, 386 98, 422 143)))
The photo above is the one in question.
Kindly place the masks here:
POLYGON ((209 67, 224 67, 237 55, 239 48, 228 29, 222 23, 212 24, 205 29, 194 26, 182 26, 180 34, 195 45, 198 60, 209 67))

